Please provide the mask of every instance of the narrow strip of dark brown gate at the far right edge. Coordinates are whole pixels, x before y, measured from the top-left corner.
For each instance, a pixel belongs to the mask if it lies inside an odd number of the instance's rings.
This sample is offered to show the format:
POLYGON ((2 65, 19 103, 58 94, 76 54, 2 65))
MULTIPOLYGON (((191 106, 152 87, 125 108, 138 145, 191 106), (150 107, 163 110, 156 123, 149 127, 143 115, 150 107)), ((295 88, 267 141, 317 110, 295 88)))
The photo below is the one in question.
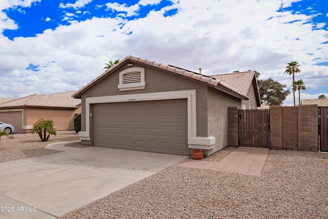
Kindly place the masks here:
POLYGON ((320 151, 328 151, 328 107, 319 107, 320 151))

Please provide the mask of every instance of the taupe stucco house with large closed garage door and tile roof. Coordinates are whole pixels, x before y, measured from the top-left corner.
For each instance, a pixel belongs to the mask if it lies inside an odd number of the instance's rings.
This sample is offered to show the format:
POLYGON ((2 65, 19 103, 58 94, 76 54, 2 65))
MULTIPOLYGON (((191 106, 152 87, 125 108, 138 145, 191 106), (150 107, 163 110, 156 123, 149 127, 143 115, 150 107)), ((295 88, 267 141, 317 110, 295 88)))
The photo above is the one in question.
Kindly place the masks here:
POLYGON ((127 56, 78 90, 83 144, 209 155, 228 146, 228 107, 256 109, 254 72, 215 76, 127 56), (239 75, 242 75, 241 77, 239 75), (223 82, 225 80, 225 83, 223 82))

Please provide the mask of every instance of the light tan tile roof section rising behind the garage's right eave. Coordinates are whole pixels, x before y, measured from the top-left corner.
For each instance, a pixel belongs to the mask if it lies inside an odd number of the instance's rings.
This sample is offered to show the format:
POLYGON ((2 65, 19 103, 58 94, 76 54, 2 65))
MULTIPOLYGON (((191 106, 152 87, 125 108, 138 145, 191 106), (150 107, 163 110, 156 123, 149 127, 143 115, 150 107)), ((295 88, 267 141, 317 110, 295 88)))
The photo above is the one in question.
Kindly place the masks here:
POLYGON ((247 96, 247 93, 251 87, 253 78, 255 76, 254 71, 245 71, 245 72, 233 72, 228 74, 216 74, 211 75, 224 84, 227 84, 235 88, 239 93, 247 96))

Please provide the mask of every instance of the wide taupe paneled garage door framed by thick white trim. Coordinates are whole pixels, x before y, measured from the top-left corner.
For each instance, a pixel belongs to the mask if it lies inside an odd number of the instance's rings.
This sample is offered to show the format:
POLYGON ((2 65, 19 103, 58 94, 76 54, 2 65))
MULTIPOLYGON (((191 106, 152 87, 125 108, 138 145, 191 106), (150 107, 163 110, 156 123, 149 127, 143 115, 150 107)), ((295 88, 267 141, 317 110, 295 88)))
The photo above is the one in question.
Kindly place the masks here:
POLYGON ((95 104, 93 145, 188 155, 187 99, 95 104))

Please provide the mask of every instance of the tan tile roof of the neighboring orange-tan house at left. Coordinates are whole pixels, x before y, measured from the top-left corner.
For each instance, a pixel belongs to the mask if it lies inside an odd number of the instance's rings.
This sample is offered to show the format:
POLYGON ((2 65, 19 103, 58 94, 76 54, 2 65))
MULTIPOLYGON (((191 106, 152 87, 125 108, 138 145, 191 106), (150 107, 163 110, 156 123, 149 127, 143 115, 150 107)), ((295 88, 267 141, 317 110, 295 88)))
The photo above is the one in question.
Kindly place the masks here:
POLYGON ((5 107, 8 108, 8 107, 26 107, 26 106, 77 108, 79 104, 81 104, 81 99, 76 99, 67 95, 60 96, 60 95, 33 94, 0 104, 0 109, 5 107))

